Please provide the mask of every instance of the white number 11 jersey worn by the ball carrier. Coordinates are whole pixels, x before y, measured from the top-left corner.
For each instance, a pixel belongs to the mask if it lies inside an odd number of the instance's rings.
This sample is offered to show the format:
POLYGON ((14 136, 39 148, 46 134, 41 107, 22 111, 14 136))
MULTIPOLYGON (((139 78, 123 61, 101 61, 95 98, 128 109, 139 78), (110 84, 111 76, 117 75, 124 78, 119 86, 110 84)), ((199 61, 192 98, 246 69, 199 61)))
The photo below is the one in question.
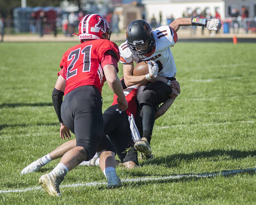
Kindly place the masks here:
POLYGON ((156 46, 153 48, 155 50, 152 55, 144 59, 137 58, 128 48, 127 42, 124 42, 119 46, 120 62, 127 64, 135 61, 137 64, 141 61, 153 60, 159 67, 158 75, 164 77, 175 77, 176 65, 172 56, 172 51, 169 47, 174 46, 178 40, 176 31, 169 26, 161 26, 156 28, 153 33, 156 46))

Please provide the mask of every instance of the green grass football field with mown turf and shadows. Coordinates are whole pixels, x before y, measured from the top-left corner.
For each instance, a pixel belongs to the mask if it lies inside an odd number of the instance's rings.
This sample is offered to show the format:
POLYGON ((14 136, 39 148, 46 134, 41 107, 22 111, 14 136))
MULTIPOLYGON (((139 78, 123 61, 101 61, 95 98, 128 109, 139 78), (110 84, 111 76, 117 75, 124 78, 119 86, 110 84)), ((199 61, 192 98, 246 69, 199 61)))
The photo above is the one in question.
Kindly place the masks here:
MULTIPOLYGON (((256 203, 255 169, 246 170, 256 164, 256 44, 249 43, 178 42, 172 48, 181 94, 156 120, 155 158, 140 161, 134 170, 117 168, 121 179, 140 180, 127 180, 114 190, 85 186, 106 179, 99 167, 78 167, 63 181, 60 198, 34 189, 58 160, 36 173, 21 176, 20 171, 63 143, 51 94, 61 56, 73 45, 0 45, 0 204, 256 203), (200 175, 233 170, 242 172, 200 175)), ((119 70, 121 77, 121 64, 119 70)), ((113 94, 107 85, 102 93, 105 110, 113 94)))

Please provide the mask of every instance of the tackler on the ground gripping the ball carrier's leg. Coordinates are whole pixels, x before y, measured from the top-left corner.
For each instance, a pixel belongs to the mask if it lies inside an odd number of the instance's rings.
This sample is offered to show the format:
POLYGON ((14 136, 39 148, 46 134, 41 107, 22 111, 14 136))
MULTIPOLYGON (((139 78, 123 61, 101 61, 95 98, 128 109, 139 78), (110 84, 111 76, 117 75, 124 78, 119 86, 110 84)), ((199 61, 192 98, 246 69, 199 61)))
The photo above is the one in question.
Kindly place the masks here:
MULTIPOLYGON (((172 87, 178 88, 178 86, 179 84, 177 82, 172 84, 172 87)), ((132 124, 129 123, 129 121, 131 120, 129 120, 129 115, 135 115, 137 110, 137 105, 135 102, 137 90, 137 86, 132 86, 124 89, 125 98, 128 102, 128 109, 125 112, 120 113, 118 110, 116 110, 117 96, 115 95, 112 106, 109 107, 103 114, 103 121, 105 124, 104 133, 108 134, 110 141, 114 144, 116 148, 117 156, 119 157, 123 165, 129 169, 137 167, 138 165, 138 153, 134 149, 133 143, 133 139, 136 138, 134 137, 136 133, 132 134, 132 124)), ((169 98, 164 104, 162 104, 161 107, 158 110, 156 110, 156 118, 159 118, 160 116, 164 115, 164 113, 171 107, 173 101, 173 98, 169 98)), ((61 137, 65 138, 65 136, 61 137)), ((56 148, 49 154, 40 157, 36 161, 29 164, 21 171, 21 174, 27 174, 41 169, 43 166, 45 166, 52 160, 62 157, 68 150, 74 147, 76 147, 76 140, 70 140, 68 142, 65 142, 64 144, 62 144, 60 147, 56 148)), ((80 165, 98 166, 98 154, 96 154, 90 161, 82 162, 80 165)))

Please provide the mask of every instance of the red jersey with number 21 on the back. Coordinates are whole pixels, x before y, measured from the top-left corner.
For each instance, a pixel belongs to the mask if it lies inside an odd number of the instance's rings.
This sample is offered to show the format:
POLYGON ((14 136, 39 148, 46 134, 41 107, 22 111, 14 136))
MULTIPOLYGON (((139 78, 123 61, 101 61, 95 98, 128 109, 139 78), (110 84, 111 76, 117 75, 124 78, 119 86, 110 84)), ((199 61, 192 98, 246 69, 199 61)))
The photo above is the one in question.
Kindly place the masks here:
POLYGON ((105 39, 83 42, 64 53, 60 62, 61 70, 58 73, 66 79, 64 95, 85 85, 97 87, 101 93, 103 83, 106 81, 102 67, 106 64, 113 64, 118 72, 116 63, 105 60, 103 65, 102 60, 106 58, 107 51, 116 56, 117 61, 119 60, 118 46, 105 39))

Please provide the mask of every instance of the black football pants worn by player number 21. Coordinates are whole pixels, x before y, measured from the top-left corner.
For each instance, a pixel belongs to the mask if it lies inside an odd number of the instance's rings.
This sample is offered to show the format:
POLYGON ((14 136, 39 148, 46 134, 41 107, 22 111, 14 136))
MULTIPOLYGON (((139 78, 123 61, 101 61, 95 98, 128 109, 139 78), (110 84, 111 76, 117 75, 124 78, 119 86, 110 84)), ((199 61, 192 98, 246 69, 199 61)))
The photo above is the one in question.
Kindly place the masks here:
POLYGON ((76 135, 76 146, 86 151, 89 161, 97 152, 115 151, 114 146, 104 135, 102 101, 98 88, 77 87, 69 92, 61 105, 61 118, 64 125, 76 135))

